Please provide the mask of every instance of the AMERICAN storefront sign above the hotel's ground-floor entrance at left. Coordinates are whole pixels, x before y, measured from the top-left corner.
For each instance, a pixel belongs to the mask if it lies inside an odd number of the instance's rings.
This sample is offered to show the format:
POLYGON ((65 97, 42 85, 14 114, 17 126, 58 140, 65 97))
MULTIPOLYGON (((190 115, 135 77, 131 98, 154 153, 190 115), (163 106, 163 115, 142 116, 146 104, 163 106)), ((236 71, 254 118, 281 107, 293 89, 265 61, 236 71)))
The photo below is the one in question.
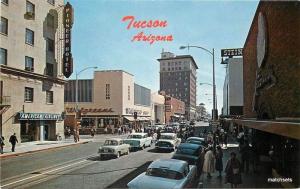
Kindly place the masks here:
POLYGON ((61 114, 19 113, 19 120, 63 120, 61 114))

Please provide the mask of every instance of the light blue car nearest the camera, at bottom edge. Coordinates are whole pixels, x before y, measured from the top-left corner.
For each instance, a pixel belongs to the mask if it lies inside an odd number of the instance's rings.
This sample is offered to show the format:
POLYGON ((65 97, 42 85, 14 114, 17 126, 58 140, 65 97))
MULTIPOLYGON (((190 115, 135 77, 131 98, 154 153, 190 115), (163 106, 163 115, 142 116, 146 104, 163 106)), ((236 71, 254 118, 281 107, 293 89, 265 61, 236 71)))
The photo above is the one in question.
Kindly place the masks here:
POLYGON ((196 180, 196 166, 177 159, 159 159, 152 162, 147 171, 127 186, 130 189, 189 188, 196 180))

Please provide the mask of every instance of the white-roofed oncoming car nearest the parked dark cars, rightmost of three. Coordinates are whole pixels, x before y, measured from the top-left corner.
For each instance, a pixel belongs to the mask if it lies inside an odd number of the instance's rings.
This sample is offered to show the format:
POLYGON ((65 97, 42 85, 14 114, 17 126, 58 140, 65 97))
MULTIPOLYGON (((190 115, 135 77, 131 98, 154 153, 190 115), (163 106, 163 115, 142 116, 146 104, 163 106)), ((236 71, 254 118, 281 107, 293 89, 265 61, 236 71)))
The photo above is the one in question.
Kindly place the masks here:
POLYGON ((155 144, 155 149, 175 151, 180 142, 181 139, 175 133, 161 133, 159 140, 155 144))

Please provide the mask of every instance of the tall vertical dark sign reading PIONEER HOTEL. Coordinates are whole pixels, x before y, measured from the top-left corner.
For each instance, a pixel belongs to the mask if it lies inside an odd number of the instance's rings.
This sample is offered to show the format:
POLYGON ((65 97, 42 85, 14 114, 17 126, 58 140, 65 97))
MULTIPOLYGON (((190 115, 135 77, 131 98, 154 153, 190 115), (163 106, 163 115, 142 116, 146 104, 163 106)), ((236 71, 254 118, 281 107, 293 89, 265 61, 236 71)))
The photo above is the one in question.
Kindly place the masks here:
POLYGON ((64 22, 64 42, 65 49, 63 54, 63 74, 66 78, 69 78, 73 73, 73 58, 71 53, 71 28, 73 25, 73 8, 68 2, 65 5, 63 12, 63 22, 64 22))

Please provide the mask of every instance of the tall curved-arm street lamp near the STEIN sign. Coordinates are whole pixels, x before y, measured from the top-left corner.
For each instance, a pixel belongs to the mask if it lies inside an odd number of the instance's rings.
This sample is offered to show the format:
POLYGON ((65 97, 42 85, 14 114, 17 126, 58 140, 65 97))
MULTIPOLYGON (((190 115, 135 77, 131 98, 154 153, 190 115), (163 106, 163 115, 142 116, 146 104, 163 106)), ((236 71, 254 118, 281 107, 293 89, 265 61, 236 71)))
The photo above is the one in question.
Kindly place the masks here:
POLYGON ((202 50, 208 52, 210 55, 212 55, 212 58, 213 58, 213 62, 212 62, 213 63, 213 84, 212 84, 212 87, 213 87, 213 110, 212 110, 212 118, 213 118, 213 121, 216 121, 217 116, 218 116, 218 109, 216 108, 215 49, 213 48, 212 51, 210 51, 206 48, 199 47, 199 46, 193 46, 193 45, 181 46, 181 47, 179 47, 179 49, 185 49, 185 48, 190 49, 190 47, 202 49, 202 50))

